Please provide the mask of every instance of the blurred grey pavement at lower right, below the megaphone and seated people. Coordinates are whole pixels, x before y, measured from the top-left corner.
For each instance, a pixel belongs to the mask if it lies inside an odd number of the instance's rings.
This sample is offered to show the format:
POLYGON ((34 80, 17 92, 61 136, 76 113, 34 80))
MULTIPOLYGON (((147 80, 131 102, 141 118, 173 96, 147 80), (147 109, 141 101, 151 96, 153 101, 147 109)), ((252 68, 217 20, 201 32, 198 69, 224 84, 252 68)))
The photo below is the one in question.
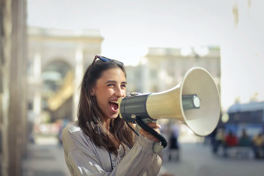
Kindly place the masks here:
POLYGON ((179 176, 259 176, 264 173, 264 161, 221 158, 211 153, 203 144, 181 144, 181 159, 177 163, 166 163, 170 173, 179 176))

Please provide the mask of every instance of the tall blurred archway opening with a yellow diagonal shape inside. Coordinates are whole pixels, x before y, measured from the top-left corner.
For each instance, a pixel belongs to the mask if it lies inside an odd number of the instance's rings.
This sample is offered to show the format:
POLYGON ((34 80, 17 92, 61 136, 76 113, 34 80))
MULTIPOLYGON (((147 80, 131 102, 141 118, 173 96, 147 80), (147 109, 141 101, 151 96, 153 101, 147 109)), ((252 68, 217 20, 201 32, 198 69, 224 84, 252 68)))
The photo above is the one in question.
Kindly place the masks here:
POLYGON ((56 59, 43 67, 41 73, 43 121, 72 119, 73 78, 73 69, 64 60, 56 59))

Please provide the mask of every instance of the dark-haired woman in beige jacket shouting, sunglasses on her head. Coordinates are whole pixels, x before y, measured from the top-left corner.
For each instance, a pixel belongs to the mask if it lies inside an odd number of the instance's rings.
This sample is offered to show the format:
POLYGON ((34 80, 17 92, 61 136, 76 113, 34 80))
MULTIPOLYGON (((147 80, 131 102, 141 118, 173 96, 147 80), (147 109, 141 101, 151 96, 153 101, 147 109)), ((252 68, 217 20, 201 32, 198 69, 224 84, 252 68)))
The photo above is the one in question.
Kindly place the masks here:
MULTIPOLYGON (((119 61, 95 56, 86 69, 78 121, 65 127, 62 134, 71 175, 158 175, 161 159, 152 150, 158 139, 143 129, 139 136, 134 135, 119 118, 117 99, 125 97, 126 84, 124 64, 119 61)), ((159 132, 157 123, 148 125, 159 132)))

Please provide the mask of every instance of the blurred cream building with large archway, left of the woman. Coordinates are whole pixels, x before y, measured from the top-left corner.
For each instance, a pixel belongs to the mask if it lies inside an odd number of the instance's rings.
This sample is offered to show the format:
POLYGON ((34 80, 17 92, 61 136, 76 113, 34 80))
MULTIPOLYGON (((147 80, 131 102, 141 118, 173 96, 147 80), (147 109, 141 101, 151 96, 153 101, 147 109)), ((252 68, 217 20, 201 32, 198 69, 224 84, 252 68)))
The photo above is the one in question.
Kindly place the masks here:
POLYGON ((29 118, 35 124, 75 118, 83 72, 101 53, 98 30, 28 27, 29 118))

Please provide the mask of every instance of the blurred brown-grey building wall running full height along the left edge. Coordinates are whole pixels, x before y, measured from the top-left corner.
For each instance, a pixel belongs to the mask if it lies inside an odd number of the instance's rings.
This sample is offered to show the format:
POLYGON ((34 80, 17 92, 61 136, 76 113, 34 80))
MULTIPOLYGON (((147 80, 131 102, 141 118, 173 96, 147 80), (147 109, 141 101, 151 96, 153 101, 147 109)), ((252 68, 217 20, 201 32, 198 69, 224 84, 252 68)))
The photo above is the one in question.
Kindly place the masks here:
POLYGON ((0 175, 20 176, 26 153, 26 1, 0 1, 0 175))

